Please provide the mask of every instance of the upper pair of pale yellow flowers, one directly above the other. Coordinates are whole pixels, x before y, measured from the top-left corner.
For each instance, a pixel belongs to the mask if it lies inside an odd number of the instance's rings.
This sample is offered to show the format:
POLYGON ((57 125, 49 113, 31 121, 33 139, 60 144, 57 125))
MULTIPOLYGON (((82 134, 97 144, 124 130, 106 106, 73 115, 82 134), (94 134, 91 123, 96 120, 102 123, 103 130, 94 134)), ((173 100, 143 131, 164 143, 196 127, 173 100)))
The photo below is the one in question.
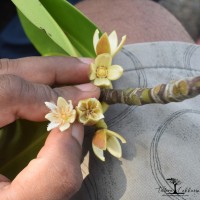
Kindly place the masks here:
POLYGON ((111 81, 117 80, 123 74, 123 68, 119 65, 111 65, 112 58, 122 48, 126 36, 122 37, 122 41, 118 45, 116 31, 109 36, 104 33, 99 38, 99 31, 96 30, 93 37, 93 46, 96 52, 95 62, 90 65, 89 79, 101 88, 112 88, 111 81))

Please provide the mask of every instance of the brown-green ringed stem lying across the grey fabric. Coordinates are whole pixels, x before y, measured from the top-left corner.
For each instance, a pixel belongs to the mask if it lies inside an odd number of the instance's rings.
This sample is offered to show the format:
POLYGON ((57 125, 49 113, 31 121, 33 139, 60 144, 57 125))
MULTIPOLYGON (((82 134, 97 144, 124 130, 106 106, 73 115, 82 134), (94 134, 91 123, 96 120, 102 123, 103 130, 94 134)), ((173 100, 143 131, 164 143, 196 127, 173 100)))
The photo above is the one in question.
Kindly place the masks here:
POLYGON ((102 89, 100 101, 107 104, 145 105, 180 102, 200 94, 200 76, 170 81, 153 88, 102 89))

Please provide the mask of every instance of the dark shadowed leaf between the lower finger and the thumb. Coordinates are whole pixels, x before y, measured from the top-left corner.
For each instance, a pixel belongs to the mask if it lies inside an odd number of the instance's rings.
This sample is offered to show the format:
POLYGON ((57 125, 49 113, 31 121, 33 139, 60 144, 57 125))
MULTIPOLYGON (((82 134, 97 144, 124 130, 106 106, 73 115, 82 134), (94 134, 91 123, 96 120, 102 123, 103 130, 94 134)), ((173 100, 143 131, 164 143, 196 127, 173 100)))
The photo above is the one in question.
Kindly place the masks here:
POLYGON ((0 174, 10 179, 35 158, 48 135, 47 123, 18 120, 0 129, 0 174))

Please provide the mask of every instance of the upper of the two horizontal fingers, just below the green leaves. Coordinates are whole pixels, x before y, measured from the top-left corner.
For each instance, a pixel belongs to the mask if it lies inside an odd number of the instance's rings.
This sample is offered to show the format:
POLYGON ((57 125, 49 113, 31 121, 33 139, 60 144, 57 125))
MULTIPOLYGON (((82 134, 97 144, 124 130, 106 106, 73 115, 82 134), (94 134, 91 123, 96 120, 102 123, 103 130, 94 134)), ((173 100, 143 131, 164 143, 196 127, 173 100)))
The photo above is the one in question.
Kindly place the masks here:
POLYGON ((88 82, 89 58, 27 57, 0 59, 0 74, 13 74, 25 80, 53 84, 88 82))

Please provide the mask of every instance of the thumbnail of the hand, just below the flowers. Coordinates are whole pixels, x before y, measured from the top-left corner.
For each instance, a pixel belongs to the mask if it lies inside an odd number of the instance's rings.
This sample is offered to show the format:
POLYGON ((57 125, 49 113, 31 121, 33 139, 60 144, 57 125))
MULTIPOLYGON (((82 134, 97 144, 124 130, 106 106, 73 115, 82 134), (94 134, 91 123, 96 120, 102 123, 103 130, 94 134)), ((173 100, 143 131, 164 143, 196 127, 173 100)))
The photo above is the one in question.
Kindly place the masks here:
POLYGON ((78 143, 82 146, 83 137, 84 137, 84 128, 80 123, 74 123, 72 125, 72 136, 78 141, 78 143))

